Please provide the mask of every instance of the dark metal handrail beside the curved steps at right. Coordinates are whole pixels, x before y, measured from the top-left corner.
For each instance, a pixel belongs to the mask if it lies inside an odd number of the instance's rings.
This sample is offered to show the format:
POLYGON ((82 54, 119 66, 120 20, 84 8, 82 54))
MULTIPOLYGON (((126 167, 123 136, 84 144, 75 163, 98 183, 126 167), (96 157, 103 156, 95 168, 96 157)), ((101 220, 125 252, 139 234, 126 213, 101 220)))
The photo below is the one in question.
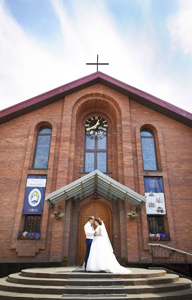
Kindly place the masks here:
POLYGON ((172 271, 177 271, 181 275, 190 275, 187 255, 192 256, 192 253, 188 253, 176 248, 172 248, 163 244, 148 243, 151 246, 153 266, 156 264, 164 265, 166 268, 172 271), (166 255, 164 255, 166 253, 166 255), (162 255, 163 254, 163 255, 162 255))

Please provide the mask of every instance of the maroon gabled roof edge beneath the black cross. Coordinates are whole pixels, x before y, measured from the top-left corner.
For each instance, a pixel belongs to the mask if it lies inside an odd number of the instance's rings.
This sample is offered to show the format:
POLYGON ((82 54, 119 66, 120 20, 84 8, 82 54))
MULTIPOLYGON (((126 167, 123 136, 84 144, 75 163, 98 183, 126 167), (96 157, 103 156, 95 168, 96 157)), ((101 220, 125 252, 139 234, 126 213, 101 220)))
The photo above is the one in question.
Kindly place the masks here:
POLYGON ((95 83, 102 83, 111 87, 151 109, 167 115, 179 122, 192 127, 192 113, 157 98, 147 92, 119 81, 102 72, 95 72, 83 78, 64 84, 43 94, 10 106, 0 111, 0 123, 18 117, 22 114, 38 109, 47 104, 53 103, 64 96, 91 86, 95 83))

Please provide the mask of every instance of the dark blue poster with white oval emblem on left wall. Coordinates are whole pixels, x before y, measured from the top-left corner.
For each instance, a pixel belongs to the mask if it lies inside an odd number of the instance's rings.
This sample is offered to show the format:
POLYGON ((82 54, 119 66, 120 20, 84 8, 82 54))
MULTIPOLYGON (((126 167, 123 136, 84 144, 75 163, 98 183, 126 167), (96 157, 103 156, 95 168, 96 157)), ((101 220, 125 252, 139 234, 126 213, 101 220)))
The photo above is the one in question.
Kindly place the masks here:
POLYGON ((23 214, 42 214, 46 175, 28 175, 24 195, 23 214))

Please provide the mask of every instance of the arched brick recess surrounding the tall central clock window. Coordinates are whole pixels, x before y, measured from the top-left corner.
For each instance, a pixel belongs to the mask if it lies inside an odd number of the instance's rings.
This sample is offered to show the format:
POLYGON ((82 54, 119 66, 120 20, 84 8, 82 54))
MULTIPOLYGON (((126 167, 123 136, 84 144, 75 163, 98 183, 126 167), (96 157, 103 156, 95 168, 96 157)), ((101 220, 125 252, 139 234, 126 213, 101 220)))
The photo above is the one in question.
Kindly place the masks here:
POLYGON ((123 159, 120 107, 110 96, 93 93, 82 96, 73 107, 69 155, 74 155, 74 159, 68 165, 69 182, 79 178, 79 173, 84 171, 85 122, 94 115, 101 115, 108 122, 108 171, 115 180, 119 180, 119 176, 123 177, 123 169, 118 169, 118 161, 123 159))

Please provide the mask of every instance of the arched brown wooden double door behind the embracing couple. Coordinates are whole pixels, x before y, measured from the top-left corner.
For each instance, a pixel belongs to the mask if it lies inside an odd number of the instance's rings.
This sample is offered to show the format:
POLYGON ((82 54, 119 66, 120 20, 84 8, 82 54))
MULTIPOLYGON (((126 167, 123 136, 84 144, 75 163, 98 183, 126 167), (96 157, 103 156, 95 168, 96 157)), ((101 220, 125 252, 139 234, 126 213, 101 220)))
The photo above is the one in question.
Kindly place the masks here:
MULTIPOLYGON (((86 252, 84 225, 90 215, 100 217, 106 226, 109 238, 112 242, 112 214, 109 206, 103 202, 93 201, 84 205, 79 212, 78 253, 77 263, 83 264, 86 252)), ((94 225, 95 227, 95 225, 94 225)))

